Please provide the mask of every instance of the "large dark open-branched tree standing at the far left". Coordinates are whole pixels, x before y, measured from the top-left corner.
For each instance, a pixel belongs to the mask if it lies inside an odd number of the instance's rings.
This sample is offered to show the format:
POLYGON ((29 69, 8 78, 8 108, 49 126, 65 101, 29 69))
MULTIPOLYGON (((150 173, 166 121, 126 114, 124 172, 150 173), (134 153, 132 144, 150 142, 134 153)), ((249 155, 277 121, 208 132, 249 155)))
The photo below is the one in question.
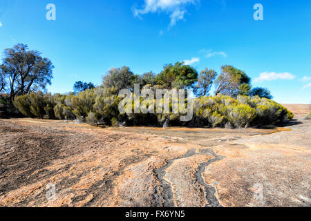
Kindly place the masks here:
POLYGON ((26 95, 40 88, 45 89, 53 78, 52 62, 40 56, 37 50, 28 50, 28 46, 17 44, 4 50, 3 64, 0 65, 1 89, 10 93, 12 104, 17 95, 26 95))

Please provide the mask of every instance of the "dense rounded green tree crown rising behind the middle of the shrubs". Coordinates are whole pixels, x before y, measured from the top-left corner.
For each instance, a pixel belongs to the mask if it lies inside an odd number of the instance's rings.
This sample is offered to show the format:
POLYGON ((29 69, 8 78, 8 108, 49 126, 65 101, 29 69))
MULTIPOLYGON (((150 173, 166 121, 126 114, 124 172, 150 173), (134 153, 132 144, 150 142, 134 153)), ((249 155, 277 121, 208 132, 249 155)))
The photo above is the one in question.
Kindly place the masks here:
POLYGON ((174 66, 172 64, 164 66, 162 73, 157 76, 157 84, 167 89, 192 87, 197 80, 196 69, 184 65, 183 62, 176 62, 174 66))

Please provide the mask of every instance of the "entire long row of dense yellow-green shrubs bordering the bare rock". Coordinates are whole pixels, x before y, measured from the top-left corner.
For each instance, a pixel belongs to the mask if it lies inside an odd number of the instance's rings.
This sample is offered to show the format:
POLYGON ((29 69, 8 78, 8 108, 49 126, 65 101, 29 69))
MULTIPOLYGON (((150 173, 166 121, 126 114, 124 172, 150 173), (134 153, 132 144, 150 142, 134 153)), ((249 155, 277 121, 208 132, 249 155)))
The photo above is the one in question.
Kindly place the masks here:
MULTIPOLYGON (((280 104, 257 96, 239 95, 236 99, 225 95, 195 98, 194 117, 190 122, 180 122, 180 114, 162 114, 157 113, 157 110, 147 114, 120 114, 118 105, 121 100, 122 97, 118 97, 115 89, 97 87, 77 95, 30 93, 16 97, 14 104, 26 117, 78 119, 88 124, 113 126, 162 125, 169 121, 171 125, 241 128, 277 124, 293 117, 280 104)), ((140 100, 142 102, 142 98, 140 100)), ((151 103, 156 106, 156 100, 151 103)))

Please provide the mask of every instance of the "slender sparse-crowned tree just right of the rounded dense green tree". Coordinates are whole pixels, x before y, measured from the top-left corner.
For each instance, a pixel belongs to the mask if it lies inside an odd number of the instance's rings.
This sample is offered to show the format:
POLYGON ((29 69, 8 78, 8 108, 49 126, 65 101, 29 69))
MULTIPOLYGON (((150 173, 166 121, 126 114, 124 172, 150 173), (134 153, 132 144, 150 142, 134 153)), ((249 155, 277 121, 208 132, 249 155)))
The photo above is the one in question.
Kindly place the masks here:
POLYGON ((209 90, 211 90, 211 85, 216 78, 217 73, 214 69, 205 68, 200 72, 198 77, 198 84, 196 85, 196 94, 198 96, 207 96, 209 90))

